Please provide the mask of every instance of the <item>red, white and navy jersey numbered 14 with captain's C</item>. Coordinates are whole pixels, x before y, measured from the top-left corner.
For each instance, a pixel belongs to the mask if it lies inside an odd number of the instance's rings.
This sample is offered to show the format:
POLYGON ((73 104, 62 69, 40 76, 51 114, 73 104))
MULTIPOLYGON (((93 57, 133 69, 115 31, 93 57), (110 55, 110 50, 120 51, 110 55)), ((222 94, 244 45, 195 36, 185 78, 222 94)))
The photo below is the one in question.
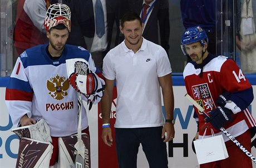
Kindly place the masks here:
MULTIPOLYGON (((204 62, 202 77, 200 77, 201 68, 197 68, 194 62, 186 65, 183 75, 187 93, 203 107, 206 113, 218 106, 215 100, 220 94, 223 94, 224 91, 232 93, 229 100, 237 104, 242 111, 233 114, 233 121, 226 123, 223 127, 234 137, 243 134, 255 126, 255 121, 248 110, 253 99, 252 85, 232 59, 209 54, 204 62), (244 91, 247 91, 247 95, 244 94, 244 91)), ((202 136, 205 130, 202 130, 201 127, 205 124, 205 116, 196 108, 195 112, 199 119, 199 135, 202 136)), ((215 129, 214 133, 221 134, 220 130, 215 129)), ((206 130, 206 137, 207 135, 211 136, 210 129, 206 130)), ((223 138, 225 141, 228 140, 226 136, 223 138)))

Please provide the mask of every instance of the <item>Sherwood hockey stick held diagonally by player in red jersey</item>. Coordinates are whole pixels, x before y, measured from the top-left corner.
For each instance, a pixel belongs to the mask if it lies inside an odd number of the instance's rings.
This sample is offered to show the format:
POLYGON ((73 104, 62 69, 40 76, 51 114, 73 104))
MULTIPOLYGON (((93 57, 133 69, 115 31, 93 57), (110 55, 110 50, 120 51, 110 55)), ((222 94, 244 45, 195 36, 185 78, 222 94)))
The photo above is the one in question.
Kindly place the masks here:
MULTIPOLYGON (((198 104, 196 103, 196 101, 191 98, 191 96, 189 94, 185 94, 185 97, 199 110, 201 111, 202 113, 204 113, 204 115, 208 116, 208 114, 206 114, 204 112, 204 109, 198 104)), ((220 130, 222 131, 223 134, 225 134, 226 136, 228 136, 228 138, 230 140, 232 140, 234 142, 235 145, 237 145, 239 147, 240 150, 242 150, 244 152, 245 155, 247 155, 248 157, 250 157, 250 159, 256 164, 256 158, 247 150, 245 149, 245 147, 240 144, 240 142, 238 142, 231 134, 229 134, 229 132, 224 129, 223 127, 220 128, 220 130)))

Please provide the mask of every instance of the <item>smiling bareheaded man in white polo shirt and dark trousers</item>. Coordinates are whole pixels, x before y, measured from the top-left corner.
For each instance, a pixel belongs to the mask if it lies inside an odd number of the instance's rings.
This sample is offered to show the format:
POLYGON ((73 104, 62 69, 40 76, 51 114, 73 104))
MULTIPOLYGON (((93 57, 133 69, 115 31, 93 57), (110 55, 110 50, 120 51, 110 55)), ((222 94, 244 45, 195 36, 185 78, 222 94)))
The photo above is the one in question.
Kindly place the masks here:
POLYGON ((149 166, 165 168, 168 167, 166 142, 173 140, 175 135, 171 66, 163 47, 141 37, 142 28, 139 15, 125 13, 120 26, 125 40, 104 58, 106 88, 101 99, 102 139, 112 146, 109 123, 116 80, 115 133, 119 167, 136 167, 141 144, 149 166))

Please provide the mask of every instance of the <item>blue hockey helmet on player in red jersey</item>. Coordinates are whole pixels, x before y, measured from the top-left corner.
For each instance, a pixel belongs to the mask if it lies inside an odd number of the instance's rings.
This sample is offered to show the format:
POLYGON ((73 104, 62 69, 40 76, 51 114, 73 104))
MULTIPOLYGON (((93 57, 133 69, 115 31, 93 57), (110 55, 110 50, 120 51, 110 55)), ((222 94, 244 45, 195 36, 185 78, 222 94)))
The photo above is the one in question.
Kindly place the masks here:
POLYGON ((181 50, 184 55, 186 55, 185 46, 186 44, 191 44, 195 42, 200 42, 204 46, 205 42, 208 43, 208 37, 204 29, 200 26, 191 27, 185 30, 181 37, 181 50))

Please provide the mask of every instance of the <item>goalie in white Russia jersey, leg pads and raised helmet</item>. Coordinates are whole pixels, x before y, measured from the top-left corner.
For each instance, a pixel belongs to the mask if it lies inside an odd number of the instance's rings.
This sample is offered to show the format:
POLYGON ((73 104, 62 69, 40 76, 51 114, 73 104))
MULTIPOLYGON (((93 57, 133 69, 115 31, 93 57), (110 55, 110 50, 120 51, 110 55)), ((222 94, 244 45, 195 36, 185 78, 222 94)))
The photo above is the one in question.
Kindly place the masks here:
POLYGON ((105 82, 88 50, 66 44, 66 4, 48 7, 44 26, 49 43, 19 55, 6 87, 13 132, 21 138, 16 167, 90 167, 87 113, 105 82))

